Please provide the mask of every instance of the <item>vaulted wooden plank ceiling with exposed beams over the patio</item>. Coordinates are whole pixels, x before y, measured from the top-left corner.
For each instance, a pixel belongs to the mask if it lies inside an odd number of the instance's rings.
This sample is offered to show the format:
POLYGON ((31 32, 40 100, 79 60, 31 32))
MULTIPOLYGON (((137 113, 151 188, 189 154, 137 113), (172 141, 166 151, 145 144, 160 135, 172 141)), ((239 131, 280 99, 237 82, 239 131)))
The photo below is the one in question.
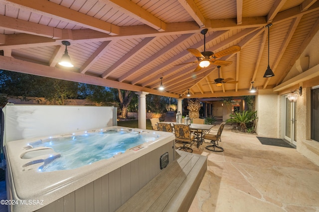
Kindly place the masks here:
POLYGON ((174 98, 249 95, 283 82, 319 29, 317 0, 0 0, 0 69, 174 98), (269 64, 275 76, 264 78, 269 64), (241 50, 194 72, 189 48, 241 50), (58 61, 67 47, 74 68, 58 61), (178 65, 178 66, 176 66, 178 65), (159 91, 160 77, 164 91, 159 91))

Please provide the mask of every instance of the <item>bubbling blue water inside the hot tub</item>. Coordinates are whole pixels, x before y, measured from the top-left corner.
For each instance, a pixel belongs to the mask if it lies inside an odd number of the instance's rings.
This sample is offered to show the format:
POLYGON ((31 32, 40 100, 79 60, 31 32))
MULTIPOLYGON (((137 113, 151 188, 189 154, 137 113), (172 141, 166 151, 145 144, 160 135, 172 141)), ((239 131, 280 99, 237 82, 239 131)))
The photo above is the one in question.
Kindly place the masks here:
POLYGON ((109 129, 100 132, 85 132, 82 135, 53 137, 30 142, 29 145, 31 148, 49 147, 60 154, 60 157, 49 155, 52 160, 38 168, 40 172, 50 172, 89 165, 158 138, 159 135, 156 133, 137 132, 132 129, 109 129))

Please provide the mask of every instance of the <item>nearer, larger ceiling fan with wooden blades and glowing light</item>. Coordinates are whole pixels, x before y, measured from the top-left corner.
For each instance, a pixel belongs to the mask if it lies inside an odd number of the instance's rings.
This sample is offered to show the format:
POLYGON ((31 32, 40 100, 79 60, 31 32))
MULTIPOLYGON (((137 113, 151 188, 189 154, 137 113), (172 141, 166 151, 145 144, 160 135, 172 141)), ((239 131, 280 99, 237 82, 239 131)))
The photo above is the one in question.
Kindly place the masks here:
POLYGON ((203 29, 200 32, 201 34, 204 35, 204 51, 203 52, 199 52, 197 49, 187 49, 188 52, 190 52, 197 58, 197 61, 178 64, 178 65, 198 64, 198 66, 196 67, 194 71, 200 71, 202 68, 206 68, 210 64, 228 66, 232 63, 231 61, 222 61, 222 60, 216 60, 216 59, 240 51, 240 46, 234 45, 217 53, 206 51, 205 50, 205 35, 207 31, 208 29, 203 29))

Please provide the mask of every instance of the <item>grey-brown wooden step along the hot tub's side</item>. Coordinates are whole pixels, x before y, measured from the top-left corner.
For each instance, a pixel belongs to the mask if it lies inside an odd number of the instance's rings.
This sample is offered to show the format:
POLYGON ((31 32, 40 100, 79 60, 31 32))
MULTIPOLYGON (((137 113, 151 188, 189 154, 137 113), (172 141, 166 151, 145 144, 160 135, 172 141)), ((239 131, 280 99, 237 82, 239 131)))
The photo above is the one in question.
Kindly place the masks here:
POLYGON ((188 211, 207 170, 207 157, 176 150, 169 164, 117 212, 188 211))

